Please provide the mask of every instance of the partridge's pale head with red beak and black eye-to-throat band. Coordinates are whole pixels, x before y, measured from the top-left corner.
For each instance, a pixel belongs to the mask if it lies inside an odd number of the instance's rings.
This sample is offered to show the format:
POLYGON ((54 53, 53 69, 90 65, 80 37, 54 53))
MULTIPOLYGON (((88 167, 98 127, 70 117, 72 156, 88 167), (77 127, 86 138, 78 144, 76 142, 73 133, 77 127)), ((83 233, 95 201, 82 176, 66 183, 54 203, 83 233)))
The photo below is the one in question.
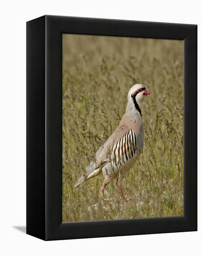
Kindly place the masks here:
POLYGON ((150 90, 142 84, 135 84, 128 92, 128 111, 135 109, 141 115, 141 102, 148 95, 151 94, 150 90))

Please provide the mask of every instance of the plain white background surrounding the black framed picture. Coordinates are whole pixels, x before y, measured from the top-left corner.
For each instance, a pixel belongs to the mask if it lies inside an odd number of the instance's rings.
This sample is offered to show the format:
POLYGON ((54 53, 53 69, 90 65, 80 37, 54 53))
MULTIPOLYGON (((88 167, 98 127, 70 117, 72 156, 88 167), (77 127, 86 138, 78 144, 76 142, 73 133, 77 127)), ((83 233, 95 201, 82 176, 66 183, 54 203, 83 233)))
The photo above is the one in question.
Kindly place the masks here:
MULTIPOLYGON (((2 1, 0 5, 0 255, 202 255, 201 151, 198 156, 198 232, 44 242, 26 224, 26 21, 44 14, 198 24, 201 84, 200 0, 2 1), (17 228, 16 228, 17 227, 17 228), (20 228, 19 228, 20 227, 20 228)), ((191 93, 191 88, 190 88, 191 93)), ((202 110, 198 88, 198 113, 202 110)), ((202 142, 198 121, 198 145, 202 142)))

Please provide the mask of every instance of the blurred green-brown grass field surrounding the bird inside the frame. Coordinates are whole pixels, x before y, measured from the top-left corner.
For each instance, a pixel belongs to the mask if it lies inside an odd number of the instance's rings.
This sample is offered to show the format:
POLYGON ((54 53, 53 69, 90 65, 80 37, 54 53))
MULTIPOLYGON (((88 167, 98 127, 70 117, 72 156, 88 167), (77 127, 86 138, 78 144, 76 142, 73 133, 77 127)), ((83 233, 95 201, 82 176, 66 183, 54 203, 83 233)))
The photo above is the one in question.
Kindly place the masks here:
POLYGON ((183 215, 183 41, 63 35, 63 222, 183 215), (135 83, 144 148, 101 204, 103 176, 74 184, 117 127, 135 83))

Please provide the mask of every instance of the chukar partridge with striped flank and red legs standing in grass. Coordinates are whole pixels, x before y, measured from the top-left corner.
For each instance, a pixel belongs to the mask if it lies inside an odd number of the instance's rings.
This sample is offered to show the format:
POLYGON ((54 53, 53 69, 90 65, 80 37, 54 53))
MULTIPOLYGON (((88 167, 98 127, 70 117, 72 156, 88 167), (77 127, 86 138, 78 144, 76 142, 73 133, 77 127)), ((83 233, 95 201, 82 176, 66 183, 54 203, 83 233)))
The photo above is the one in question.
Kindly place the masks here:
POLYGON ((102 195, 108 182, 116 179, 121 195, 123 189, 119 184, 119 176, 124 175, 135 163, 143 149, 144 130, 141 118, 141 103, 143 98, 150 94, 150 90, 142 84, 135 84, 128 92, 128 104, 118 128, 101 146, 91 162, 75 184, 78 187, 83 182, 99 174, 103 174, 104 182, 101 188, 102 195))

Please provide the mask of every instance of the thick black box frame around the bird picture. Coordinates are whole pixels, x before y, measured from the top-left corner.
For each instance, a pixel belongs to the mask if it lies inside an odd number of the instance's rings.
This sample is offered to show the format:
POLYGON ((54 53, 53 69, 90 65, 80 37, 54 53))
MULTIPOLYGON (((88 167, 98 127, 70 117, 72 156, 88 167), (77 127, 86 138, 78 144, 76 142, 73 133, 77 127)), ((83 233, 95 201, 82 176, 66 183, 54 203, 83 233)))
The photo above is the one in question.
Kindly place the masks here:
POLYGON ((45 15, 27 22, 27 234, 43 240, 197 230, 197 26, 45 15), (62 223, 62 34, 184 40, 184 216, 62 223))

